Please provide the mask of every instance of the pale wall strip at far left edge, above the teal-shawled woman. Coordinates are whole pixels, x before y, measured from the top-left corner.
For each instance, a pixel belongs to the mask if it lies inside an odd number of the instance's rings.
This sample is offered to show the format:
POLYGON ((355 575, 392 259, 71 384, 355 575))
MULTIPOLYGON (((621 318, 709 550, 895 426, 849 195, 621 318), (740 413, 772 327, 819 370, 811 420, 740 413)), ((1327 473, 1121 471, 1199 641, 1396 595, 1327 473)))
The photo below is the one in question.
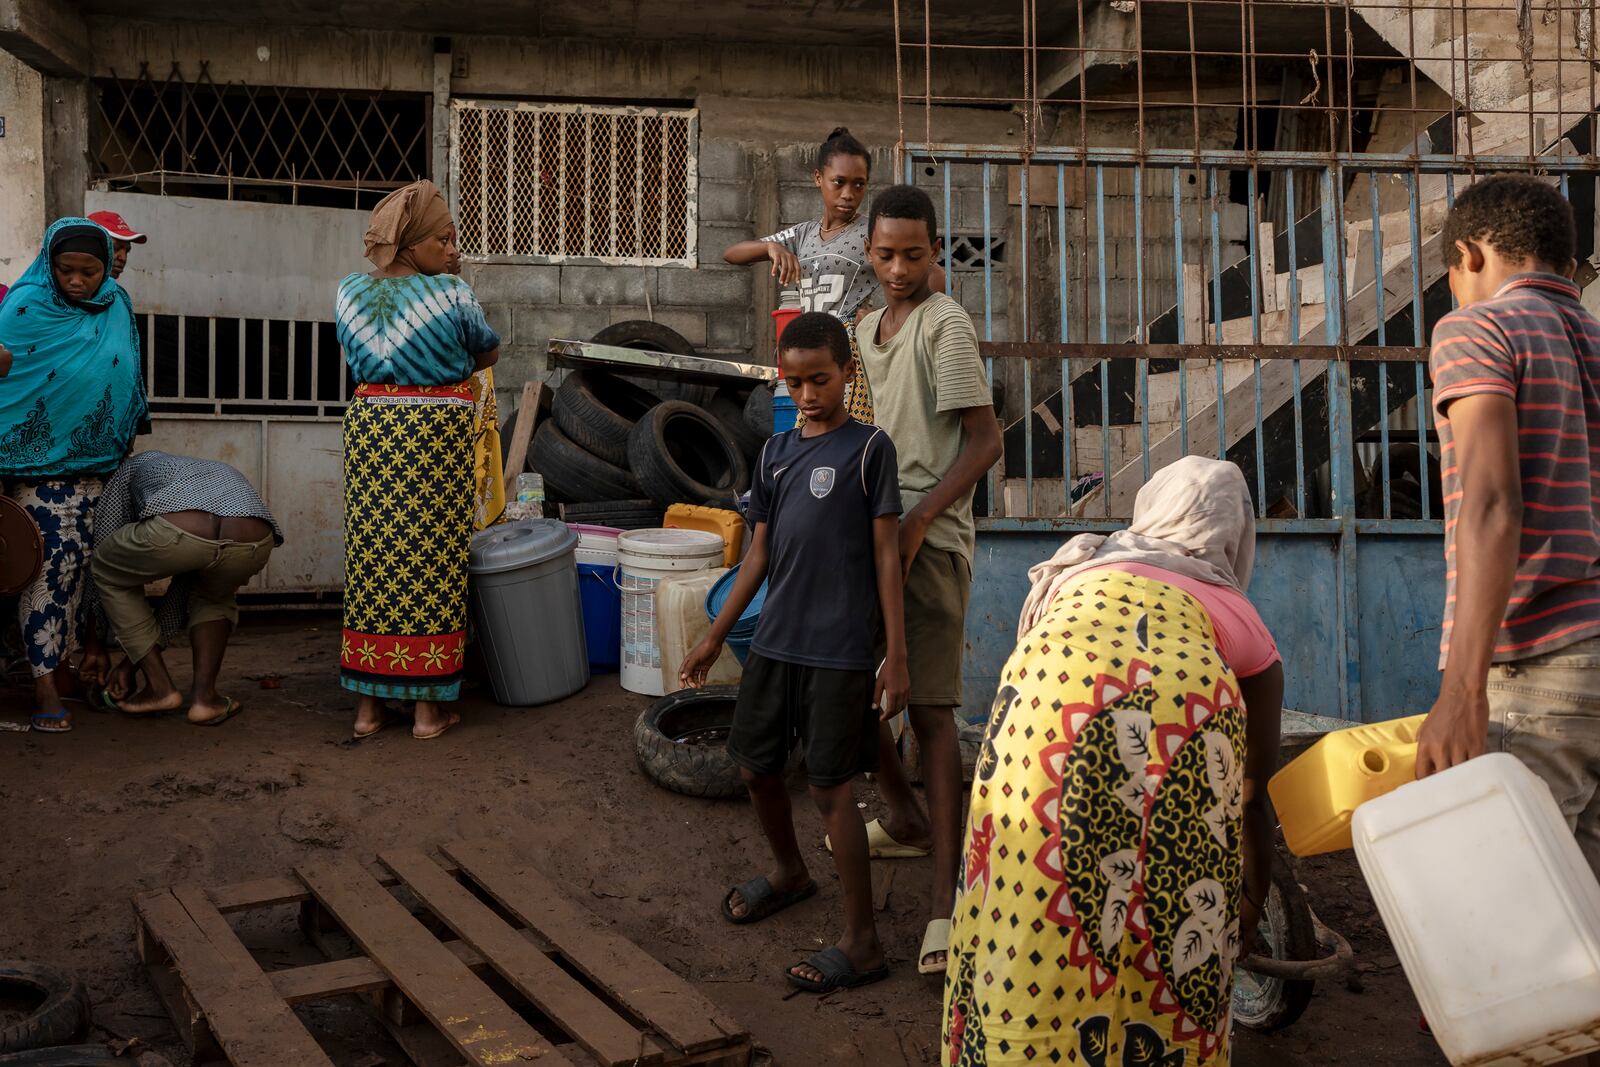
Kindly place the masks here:
POLYGON ((38 72, 0 51, 0 285, 34 262, 45 237, 43 114, 38 72))

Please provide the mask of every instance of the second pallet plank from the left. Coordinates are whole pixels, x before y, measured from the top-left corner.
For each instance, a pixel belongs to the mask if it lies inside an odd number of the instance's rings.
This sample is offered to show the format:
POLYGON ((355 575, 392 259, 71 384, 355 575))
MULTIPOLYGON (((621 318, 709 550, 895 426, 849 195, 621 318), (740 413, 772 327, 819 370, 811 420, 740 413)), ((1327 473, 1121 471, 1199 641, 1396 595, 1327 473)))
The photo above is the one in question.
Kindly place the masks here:
POLYGON ((467 1062, 568 1062, 354 859, 333 856, 294 872, 467 1062))

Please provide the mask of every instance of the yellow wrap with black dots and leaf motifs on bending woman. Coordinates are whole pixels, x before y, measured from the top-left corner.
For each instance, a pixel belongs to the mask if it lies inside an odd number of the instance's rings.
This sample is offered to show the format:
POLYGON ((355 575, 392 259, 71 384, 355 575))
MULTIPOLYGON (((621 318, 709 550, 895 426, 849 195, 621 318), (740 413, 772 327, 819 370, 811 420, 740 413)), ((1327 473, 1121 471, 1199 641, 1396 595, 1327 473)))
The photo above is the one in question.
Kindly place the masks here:
POLYGON ((1198 601, 1115 569, 1062 590, 979 753, 941 1062, 1227 1067, 1243 760, 1198 601))

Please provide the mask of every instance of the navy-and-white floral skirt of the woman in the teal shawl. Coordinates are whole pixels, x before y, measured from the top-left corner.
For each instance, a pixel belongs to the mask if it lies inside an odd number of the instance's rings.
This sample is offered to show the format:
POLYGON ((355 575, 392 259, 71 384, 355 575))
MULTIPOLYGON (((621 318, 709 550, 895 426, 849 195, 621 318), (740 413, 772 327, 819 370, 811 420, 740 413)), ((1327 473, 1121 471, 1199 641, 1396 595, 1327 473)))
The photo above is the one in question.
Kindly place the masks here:
POLYGON ((83 589, 90 579, 94 504, 104 482, 98 475, 16 482, 13 498, 38 525, 45 566, 18 600, 27 665, 48 675, 72 653, 83 633, 83 589))

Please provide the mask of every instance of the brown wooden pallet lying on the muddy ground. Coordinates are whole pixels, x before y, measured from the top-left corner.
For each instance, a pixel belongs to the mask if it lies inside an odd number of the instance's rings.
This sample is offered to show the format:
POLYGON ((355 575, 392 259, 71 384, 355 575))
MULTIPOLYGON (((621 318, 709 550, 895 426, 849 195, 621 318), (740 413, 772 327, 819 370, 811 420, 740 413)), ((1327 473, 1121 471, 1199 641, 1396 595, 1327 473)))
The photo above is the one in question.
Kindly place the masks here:
POLYGON ((291 1005, 357 993, 418 1067, 749 1064, 749 1033, 502 843, 438 851, 136 896, 139 957, 195 1062, 333 1067, 291 1005), (226 918, 285 904, 326 963, 262 971, 226 918))

